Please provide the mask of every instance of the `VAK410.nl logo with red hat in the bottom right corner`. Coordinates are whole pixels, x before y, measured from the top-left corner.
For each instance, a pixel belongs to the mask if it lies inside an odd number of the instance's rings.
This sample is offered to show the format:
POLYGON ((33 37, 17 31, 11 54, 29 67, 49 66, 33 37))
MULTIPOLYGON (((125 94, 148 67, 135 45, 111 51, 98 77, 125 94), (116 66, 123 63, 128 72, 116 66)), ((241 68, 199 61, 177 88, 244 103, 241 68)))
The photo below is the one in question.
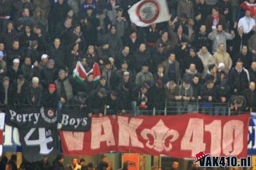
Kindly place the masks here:
POLYGON ((196 160, 194 163, 199 163, 201 167, 250 167, 251 157, 240 158, 240 162, 236 156, 210 156, 210 154, 205 154, 203 151, 196 154, 196 160))

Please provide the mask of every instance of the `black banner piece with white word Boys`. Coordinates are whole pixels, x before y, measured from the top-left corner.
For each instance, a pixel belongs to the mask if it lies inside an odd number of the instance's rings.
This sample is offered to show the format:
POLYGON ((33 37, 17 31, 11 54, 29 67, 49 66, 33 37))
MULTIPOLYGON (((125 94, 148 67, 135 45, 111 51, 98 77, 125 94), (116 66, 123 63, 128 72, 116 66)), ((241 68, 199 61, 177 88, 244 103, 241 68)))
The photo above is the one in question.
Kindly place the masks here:
POLYGON ((92 117, 87 112, 78 109, 65 108, 61 110, 61 124, 63 131, 87 132, 90 131, 92 117))

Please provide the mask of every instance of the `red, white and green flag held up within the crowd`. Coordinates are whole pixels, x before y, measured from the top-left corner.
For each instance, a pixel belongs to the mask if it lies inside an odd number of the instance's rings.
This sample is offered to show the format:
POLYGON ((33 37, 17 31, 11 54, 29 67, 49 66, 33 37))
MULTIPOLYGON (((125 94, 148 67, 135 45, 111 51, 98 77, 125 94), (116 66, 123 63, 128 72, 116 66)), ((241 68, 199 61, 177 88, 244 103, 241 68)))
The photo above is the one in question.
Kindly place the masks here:
POLYGON ((83 82, 89 74, 93 74, 93 80, 98 81, 101 73, 98 63, 93 64, 93 68, 86 72, 86 70, 83 68, 82 63, 80 61, 77 61, 76 68, 73 71, 73 77, 76 79, 78 83, 83 82))

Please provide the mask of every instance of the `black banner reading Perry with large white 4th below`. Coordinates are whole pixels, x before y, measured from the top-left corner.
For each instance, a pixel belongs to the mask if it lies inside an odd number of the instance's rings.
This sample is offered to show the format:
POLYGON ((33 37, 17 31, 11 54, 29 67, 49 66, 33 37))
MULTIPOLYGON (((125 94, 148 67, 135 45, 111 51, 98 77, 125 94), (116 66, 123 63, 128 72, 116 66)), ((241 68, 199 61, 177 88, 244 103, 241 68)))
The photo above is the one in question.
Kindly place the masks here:
POLYGON ((23 156, 34 162, 59 152, 57 113, 51 108, 9 108, 6 124, 18 128, 23 156))

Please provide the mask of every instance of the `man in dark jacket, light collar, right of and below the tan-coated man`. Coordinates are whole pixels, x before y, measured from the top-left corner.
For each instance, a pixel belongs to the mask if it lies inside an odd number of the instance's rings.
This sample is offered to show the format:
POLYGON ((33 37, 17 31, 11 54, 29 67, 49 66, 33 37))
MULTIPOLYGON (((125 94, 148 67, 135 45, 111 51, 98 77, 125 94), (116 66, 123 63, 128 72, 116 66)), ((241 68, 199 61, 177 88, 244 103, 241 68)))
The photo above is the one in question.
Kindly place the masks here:
POLYGON ((248 87, 248 77, 241 60, 238 60, 236 66, 229 71, 228 84, 231 87, 231 93, 234 95, 241 95, 243 89, 248 87))

